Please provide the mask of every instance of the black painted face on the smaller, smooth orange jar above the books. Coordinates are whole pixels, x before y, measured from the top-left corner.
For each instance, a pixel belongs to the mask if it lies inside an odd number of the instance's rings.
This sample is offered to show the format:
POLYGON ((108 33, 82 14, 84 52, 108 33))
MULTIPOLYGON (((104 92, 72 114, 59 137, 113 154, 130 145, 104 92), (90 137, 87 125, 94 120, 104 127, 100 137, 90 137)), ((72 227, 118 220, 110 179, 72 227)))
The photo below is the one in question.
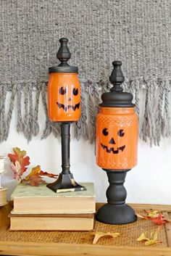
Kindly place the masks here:
MULTIPOLYGON (((59 94, 61 94, 61 95, 67 94, 67 88, 63 88, 63 87, 59 88, 59 94)), ((77 96, 78 95, 78 88, 73 88, 72 94, 73 94, 73 96, 77 96)), ((71 100, 72 100, 71 98, 68 99, 68 103, 71 102, 71 100)), ((80 102, 75 104, 75 105, 72 105, 72 104, 62 104, 62 103, 57 102, 57 106, 59 107, 59 109, 62 108, 65 112, 67 110, 70 110, 70 109, 75 111, 75 110, 79 109, 80 102)))

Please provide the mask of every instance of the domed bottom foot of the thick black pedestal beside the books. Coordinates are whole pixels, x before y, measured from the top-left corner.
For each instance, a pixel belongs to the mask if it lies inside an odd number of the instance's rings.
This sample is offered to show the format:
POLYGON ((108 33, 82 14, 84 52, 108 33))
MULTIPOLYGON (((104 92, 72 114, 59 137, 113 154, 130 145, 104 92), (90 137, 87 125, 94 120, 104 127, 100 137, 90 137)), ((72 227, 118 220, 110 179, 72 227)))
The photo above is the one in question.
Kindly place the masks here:
POLYGON ((96 214, 96 220, 107 224, 128 224, 137 220, 129 205, 104 205, 96 214))

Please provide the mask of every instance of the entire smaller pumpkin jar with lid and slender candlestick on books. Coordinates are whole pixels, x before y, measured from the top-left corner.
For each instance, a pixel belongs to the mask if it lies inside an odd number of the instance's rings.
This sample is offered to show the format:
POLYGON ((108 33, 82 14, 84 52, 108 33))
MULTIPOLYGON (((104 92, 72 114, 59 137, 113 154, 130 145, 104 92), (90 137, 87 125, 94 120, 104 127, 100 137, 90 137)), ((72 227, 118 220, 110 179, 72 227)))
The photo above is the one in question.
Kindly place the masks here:
POLYGON ((48 115, 52 122, 61 126, 62 172, 57 181, 47 187, 56 193, 66 191, 82 191, 86 188, 78 184, 70 172, 70 125, 78 121, 81 114, 80 82, 78 67, 70 66, 67 61, 71 54, 67 38, 60 38, 57 67, 49 67, 48 83, 48 115))

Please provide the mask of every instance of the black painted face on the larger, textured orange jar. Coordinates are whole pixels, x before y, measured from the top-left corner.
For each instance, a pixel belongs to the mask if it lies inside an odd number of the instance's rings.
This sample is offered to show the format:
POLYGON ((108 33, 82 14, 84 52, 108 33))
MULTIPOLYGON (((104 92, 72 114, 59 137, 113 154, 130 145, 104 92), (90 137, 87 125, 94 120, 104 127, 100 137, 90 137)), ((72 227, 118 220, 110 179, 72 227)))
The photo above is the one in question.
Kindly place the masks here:
MULTIPOLYGON (((104 136, 108 136, 108 134, 109 134, 107 128, 104 128, 102 133, 103 133, 104 136)), ((124 133, 124 131, 122 129, 120 129, 117 132, 117 136, 123 137, 124 135, 125 135, 125 133, 124 133)), ((109 146, 106 146, 106 145, 101 143, 102 149, 106 149, 107 153, 118 154, 120 151, 123 151, 125 149, 125 145, 124 146, 119 146, 119 147, 116 148, 114 146, 116 143, 115 143, 113 137, 111 139, 109 139, 109 144, 112 144, 113 146, 109 147, 109 146)))

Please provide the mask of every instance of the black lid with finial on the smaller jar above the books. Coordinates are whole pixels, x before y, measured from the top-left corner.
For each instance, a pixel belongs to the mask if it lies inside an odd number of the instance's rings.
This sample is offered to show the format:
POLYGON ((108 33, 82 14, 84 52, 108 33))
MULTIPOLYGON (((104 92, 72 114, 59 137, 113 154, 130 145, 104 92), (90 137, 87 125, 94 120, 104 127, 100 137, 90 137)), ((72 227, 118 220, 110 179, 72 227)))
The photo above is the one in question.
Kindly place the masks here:
POLYGON ((49 67, 49 73, 78 73, 78 67, 70 66, 67 61, 71 57, 70 50, 67 47, 67 38, 60 38, 60 47, 57 52, 57 59, 61 62, 57 67, 49 67))

